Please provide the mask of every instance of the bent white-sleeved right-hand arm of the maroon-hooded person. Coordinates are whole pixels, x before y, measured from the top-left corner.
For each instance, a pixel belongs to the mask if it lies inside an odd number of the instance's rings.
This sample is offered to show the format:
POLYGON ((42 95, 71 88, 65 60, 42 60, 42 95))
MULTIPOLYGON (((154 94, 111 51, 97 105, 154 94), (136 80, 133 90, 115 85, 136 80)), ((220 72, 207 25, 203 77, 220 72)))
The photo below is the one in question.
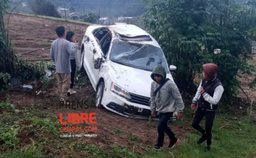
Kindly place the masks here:
POLYGON ((221 99, 221 96, 224 92, 224 88, 222 85, 219 85, 215 88, 213 97, 211 97, 208 93, 204 92, 203 97, 204 100, 209 102, 210 104, 216 105, 218 104, 219 100, 221 99))

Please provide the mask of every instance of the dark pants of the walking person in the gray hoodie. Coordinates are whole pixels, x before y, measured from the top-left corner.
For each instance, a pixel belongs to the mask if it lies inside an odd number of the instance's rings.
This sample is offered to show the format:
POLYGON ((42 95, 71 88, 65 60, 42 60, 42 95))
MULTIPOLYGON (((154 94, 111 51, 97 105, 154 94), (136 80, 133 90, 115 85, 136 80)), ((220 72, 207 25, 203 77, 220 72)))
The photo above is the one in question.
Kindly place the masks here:
POLYGON ((157 131, 158 131, 157 144, 159 146, 163 146, 164 144, 164 133, 166 133, 169 136, 169 139, 171 141, 177 140, 172 130, 167 126, 167 122, 171 117, 172 117, 172 112, 159 114, 159 123, 157 127, 157 131))

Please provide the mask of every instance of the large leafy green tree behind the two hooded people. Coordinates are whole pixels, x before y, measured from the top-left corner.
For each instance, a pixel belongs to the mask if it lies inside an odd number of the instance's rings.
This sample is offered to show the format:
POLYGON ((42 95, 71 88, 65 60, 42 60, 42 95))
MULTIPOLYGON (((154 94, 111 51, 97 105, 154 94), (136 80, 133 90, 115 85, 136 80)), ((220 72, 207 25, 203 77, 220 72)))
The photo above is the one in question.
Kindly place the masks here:
POLYGON ((231 0, 146 0, 146 29, 163 48, 169 64, 177 66, 181 90, 193 85, 204 63, 219 66, 218 77, 228 100, 238 92, 238 72, 251 75, 254 66, 251 36, 255 10, 231 0), (248 34, 248 32, 250 34, 248 34))

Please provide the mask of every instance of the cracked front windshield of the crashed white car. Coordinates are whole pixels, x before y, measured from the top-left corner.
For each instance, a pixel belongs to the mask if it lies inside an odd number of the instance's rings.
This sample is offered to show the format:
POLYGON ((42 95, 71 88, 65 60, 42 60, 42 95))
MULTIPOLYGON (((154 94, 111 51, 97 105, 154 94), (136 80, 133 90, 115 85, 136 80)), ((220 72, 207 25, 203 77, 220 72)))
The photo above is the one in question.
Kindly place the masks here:
POLYGON ((121 40, 114 40, 110 60, 125 66, 141 70, 153 71, 161 64, 169 73, 161 48, 150 44, 134 44, 121 40))

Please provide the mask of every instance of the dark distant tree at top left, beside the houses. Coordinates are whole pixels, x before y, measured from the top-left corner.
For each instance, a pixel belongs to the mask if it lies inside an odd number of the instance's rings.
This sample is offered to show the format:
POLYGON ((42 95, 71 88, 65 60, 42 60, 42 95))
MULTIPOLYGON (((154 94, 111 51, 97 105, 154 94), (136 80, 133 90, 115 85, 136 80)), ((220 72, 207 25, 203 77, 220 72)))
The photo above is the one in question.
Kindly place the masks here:
POLYGON ((59 12, 57 12, 55 6, 48 0, 35 0, 33 3, 31 3, 31 10, 36 15, 61 18, 61 15, 59 12))

